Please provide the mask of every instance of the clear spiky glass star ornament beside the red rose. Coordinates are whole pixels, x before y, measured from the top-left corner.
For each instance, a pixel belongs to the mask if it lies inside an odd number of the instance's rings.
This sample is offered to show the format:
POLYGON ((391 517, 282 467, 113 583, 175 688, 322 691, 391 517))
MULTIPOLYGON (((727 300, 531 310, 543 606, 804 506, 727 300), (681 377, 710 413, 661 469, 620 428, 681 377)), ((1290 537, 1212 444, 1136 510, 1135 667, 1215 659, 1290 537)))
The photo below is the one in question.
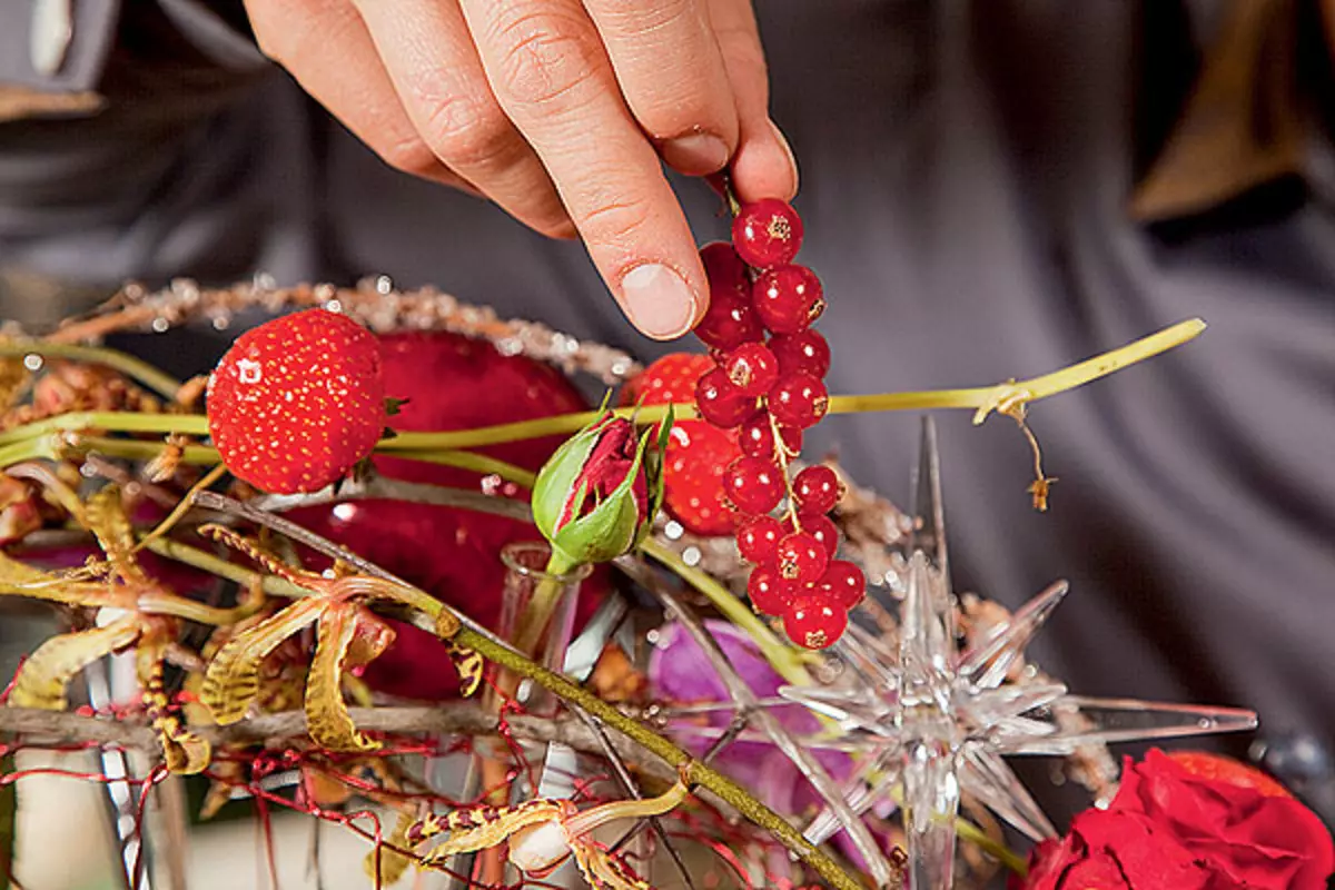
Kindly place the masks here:
MULTIPOLYGON (((1067 594, 1059 582, 965 651, 951 590, 936 432, 924 422, 916 472, 918 526, 908 548, 898 639, 850 627, 834 652, 849 687, 785 686, 780 695, 830 718, 832 747, 860 754, 844 789, 854 813, 902 810, 908 886, 948 890, 953 881, 961 794, 1039 841, 1056 834, 1007 755, 1069 755, 1083 746, 1248 730, 1252 711, 1071 695, 1057 682, 1004 683, 1067 594)), ((821 811, 805 834, 829 839, 840 822, 821 811)))

